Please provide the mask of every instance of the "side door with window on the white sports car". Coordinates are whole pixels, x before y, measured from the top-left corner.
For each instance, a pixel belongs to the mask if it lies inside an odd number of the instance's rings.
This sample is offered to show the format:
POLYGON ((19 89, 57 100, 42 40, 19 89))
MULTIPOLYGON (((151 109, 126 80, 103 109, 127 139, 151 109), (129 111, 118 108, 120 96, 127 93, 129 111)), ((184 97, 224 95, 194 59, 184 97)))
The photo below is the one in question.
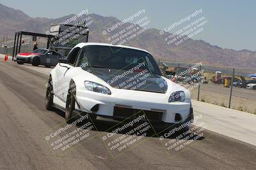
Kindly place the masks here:
POLYGON ((74 69, 76 58, 80 48, 73 48, 67 55, 68 64, 60 63, 56 67, 56 96, 63 102, 67 100, 70 77, 67 76, 68 71, 74 69))

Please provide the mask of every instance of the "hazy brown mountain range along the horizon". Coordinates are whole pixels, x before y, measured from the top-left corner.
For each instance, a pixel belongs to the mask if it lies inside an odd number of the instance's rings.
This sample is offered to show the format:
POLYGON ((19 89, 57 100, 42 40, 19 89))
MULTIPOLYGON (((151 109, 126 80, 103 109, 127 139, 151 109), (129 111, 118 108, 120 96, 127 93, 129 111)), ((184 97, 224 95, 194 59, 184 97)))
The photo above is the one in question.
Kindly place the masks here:
MULTIPOLYGON (((0 4, 0 41, 4 35, 8 34, 8 39, 13 39, 15 31, 28 31, 45 33, 49 30, 50 25, 65 22, 68 18, 74 17, 74 14, 61 18, 31 18, 23 11, 15 10, 0 4)), ((92 24, 89 26, 90 35, 89 42, 108 43, 106 36, 102 34, 102 30, 108 28, 111 23, 121 22, 115 17, 103 17, 97 14, 88 15, 92 17, 92 24)), ((83 16, 87 17, 87 16, 83 16)), ((81 17, 82 19, 82 17, 81 17)), ((77 22, 77 20, 76 20, 77 22)), ((75 24, 75 22, 70 22, 75 24)), ((129 26, 129 23, 120 25, 113 34, 129 26)), ((177 46, 166 45, 163 36, 159 34, 160 30, 146 29, 132 41, 128 41, 124 45, 136 46, 148 50, 156 60, 164 60, 170 62, 186 62, 195 63, 202 61, 205 65, 240 67, 244 69, 256 70, 256 52, 250 50, 232 50, 221 48, 220 46, 211 45, 204 40, 190 39, 188 43, 177 46)), ((164 36, 171 34, 165 32, 164 36)))

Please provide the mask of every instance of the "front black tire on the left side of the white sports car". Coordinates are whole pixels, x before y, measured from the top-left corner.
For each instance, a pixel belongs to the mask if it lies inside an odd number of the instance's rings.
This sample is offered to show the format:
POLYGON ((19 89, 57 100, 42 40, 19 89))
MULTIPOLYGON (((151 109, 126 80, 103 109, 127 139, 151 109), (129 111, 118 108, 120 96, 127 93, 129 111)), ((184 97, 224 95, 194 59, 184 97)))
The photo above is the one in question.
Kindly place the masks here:
POLYGON ((66 111, 65 111, 65 119, 68 124, 74 122, 74 118, 72 118, 72 111, 75 110, 76 106, 76 85, 73 81, 70 81, 68 96, 66 102, 66 111))

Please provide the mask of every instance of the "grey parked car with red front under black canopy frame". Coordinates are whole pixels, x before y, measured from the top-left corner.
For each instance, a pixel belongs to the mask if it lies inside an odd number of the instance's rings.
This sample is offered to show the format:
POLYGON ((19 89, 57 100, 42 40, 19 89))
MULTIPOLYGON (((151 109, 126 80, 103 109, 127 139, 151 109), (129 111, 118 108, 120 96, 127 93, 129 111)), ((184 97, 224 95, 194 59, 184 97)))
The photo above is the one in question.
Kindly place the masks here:
POLYGON ((44 65, 46 67, 56 66, 61 58, 63 55, 60 53, 45 48, 39 48, 29 53, 18 53, 16 56, 18 64, 29 63, 33 66, 44 65))

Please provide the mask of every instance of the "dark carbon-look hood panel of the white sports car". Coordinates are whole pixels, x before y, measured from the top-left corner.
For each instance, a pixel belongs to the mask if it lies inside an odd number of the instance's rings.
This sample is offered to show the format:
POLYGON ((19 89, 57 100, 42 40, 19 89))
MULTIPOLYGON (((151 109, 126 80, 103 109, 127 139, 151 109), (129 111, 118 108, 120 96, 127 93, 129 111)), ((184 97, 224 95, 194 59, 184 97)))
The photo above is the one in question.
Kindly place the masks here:
POLYGON ((116 89, 140 90, 146 92, 165 93, 168 89, 166 81, 159 75, 150 74, 147 71, 93 68, 92 72, 111 87, 116 89))

